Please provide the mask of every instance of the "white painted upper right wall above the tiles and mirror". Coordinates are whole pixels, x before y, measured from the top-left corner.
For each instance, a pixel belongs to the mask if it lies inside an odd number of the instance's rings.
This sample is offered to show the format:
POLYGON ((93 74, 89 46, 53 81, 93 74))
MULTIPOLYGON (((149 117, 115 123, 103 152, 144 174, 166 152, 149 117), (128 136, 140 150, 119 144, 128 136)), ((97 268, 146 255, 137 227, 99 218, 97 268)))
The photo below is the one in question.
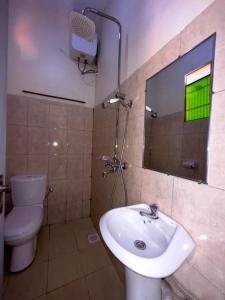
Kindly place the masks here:
MULTIPOLYGON (((134 73, 214 0, 114 0, 106 12, 123 28, 122 81, 134 73)), ((117 27, 104 21, 96 104, 116 87, 117 27)))

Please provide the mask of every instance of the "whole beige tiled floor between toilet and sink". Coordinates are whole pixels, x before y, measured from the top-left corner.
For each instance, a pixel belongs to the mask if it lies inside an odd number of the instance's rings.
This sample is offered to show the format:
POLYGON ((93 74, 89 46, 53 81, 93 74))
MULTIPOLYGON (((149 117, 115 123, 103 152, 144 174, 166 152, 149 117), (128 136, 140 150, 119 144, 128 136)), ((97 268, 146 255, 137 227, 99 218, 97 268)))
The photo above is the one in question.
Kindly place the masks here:
POLYGON ((102 244, 89 244, 90 219, 45 226, 35 261, 6 276, 4 300, 124 300, 124 288, 102 244))

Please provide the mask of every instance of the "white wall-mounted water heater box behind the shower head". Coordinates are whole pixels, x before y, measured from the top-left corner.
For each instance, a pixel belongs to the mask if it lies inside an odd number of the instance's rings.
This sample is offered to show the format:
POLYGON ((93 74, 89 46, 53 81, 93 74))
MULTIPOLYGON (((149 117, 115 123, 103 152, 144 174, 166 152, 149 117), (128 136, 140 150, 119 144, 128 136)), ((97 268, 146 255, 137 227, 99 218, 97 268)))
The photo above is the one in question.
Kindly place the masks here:
POLYGON ((88 65, 96 64, 96 55, 97 55, 97 46, 98 46, 98 38, 97 34, 93 40, 85 40, 78 35, 72 33, 71 35, 71 48, 70 48, 70 56, 81 63, 85 63, 88 65))

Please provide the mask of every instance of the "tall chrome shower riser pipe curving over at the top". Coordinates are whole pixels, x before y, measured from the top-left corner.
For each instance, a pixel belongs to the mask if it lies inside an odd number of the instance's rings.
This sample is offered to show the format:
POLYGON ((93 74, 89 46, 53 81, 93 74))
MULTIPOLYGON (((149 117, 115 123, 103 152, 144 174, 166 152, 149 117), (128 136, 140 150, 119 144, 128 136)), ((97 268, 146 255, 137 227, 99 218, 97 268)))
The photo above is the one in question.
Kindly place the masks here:
MULTIPOLYGON (((117 24, 119 27, 119 45, 118 45, 118 70, 117 70, 117 94, 120 94, 120 73, 121 73, 121 51, 122 51, 122 26, 120 21, 116 18, 100 11, 95 8, 86 7, 82 10, 83 15, 88 13, 96 14, 102 18, 108 19, 117 24)), ((115 147, 114 147, 114 157, 118 157, 118 140, 119 140, 119 103, 116 104, 116 132, 115 132, 115 147)))

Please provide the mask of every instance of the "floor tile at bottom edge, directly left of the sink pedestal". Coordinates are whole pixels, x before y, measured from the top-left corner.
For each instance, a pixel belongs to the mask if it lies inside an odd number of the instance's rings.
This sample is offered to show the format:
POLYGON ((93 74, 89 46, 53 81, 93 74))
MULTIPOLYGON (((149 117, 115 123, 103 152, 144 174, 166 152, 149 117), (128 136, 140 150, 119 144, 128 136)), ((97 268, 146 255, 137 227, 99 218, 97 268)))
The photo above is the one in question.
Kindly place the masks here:
POLYGON ((86 278, 91 300, 124 300, 125 291, 113 266, 86 278))

